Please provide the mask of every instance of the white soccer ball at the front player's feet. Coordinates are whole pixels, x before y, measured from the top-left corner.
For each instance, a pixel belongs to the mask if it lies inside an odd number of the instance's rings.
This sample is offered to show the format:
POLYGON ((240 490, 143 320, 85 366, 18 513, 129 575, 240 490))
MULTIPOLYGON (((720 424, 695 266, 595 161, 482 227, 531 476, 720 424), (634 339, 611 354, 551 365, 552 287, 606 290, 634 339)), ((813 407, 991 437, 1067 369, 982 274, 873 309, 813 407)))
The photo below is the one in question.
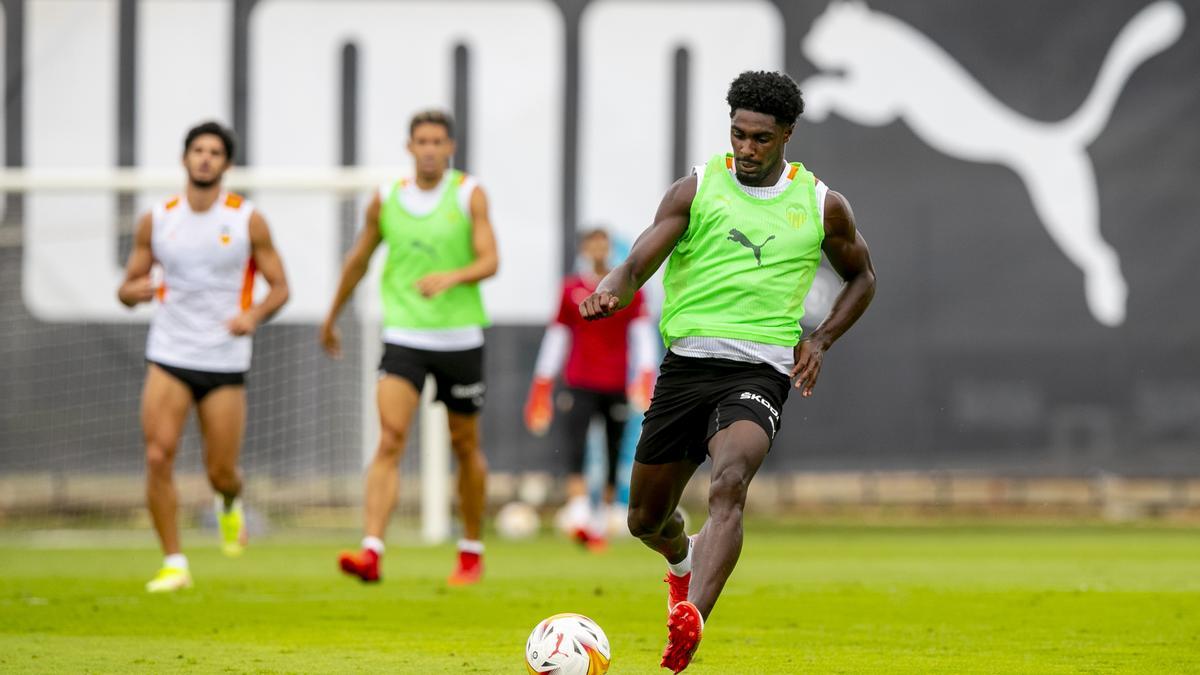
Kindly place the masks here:
POLYGON ((582 614, 556 614, 542 620, 526 640, 530 675, 604 675, 611 661, 608 638, 582 614))

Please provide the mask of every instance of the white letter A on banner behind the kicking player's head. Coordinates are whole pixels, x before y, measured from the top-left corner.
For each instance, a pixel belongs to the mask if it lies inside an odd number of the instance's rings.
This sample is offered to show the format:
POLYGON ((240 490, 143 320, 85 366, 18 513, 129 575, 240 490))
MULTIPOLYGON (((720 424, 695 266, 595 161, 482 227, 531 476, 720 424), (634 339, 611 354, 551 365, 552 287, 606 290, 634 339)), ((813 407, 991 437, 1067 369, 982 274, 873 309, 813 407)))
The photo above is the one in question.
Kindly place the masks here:
POLYGON ((596 1, 581 44, 580 222, 631 244, 650 223, 670 177, 674 54, 690 55, 689 166, 730 150, 725 94, 745 70, 784 64, 784 19, 770 2, 596 1), (755 26, 754 40, 730 26, 755 26))

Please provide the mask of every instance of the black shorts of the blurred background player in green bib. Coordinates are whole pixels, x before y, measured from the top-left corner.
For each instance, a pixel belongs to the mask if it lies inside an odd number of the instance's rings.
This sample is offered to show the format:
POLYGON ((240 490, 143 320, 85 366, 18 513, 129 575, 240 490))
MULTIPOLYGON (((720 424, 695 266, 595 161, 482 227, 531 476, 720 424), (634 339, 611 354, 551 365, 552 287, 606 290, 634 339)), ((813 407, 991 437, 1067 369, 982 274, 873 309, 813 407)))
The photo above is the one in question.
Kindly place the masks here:
POLYGON ((379 375, 395 375, 413 383, 420 392, 425 376, 432 375, 437 384, 436 399, 446 408, 463 414, 479 412, 484 406, 484 348, 461 352, 431 352, 400 345, 384 344, 379 375))

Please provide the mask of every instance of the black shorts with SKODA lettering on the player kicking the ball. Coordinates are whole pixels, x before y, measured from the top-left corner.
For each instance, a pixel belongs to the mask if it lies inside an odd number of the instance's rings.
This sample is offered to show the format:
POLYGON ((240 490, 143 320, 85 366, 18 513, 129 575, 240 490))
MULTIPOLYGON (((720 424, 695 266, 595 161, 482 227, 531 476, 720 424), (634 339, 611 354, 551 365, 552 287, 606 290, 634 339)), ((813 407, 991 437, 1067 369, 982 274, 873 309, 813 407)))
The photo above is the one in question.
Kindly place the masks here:
POLYGON ((773 442, 791 381, 767 364, 680 357, 662 359, 654 400, 642 422, 635 459, 642 464, 703 464, 708 441, 739 419, 773 442))

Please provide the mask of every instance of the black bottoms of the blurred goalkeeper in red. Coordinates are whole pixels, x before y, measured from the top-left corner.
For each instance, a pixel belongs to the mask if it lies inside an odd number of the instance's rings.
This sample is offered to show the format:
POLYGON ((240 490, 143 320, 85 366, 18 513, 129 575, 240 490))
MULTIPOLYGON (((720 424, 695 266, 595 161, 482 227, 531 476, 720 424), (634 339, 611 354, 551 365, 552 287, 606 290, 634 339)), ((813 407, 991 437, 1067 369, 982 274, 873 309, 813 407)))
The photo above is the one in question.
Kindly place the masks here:
POLYGON ((620 455, 620 440, 625 435, 625 420, 629 419, 629 401, 624 392, 595 392, 568 387, 556 396, 559 419, 565 432, 564 446, 568 473, 583 473, 583 459, 588 448, 588 428, 592 419, 600 416, 604 419, 604 432, 607 448, 608 470, 605 483, 617 484, 617 459, 620 455))

